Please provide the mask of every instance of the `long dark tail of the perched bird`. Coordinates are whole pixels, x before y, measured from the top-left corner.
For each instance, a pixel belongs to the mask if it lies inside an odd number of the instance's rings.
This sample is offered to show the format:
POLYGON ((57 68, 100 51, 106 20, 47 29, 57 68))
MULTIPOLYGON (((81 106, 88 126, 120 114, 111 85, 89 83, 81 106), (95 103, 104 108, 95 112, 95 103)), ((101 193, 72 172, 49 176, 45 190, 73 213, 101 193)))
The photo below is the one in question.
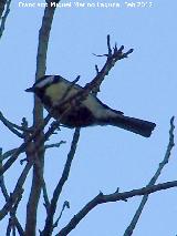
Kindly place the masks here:
POLYGON ((101 121, 101 125, 114 125, 133 133, 139 134, 145 137, 149 137, 152 131, 155 129, 156 124, 149 121, 144 121, 135 117, 128 117, 117 114, 117 116, 111 116, 107 120, 101 121))

